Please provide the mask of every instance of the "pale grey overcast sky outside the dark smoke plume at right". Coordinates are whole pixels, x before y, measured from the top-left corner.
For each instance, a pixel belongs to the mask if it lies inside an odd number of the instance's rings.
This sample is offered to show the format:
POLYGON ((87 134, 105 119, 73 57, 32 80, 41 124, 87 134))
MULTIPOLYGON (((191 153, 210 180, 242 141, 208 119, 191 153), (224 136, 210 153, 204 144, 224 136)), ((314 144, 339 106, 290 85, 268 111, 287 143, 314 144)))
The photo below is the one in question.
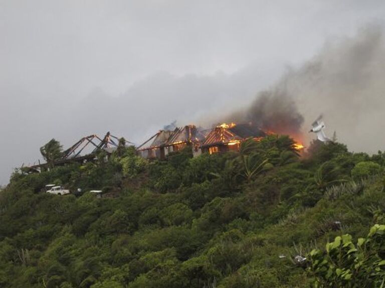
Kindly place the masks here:
POLYGON ((139 143, 243 107, 384 16, 382 0, 0 0, 0 184, 52 137, 139 143))

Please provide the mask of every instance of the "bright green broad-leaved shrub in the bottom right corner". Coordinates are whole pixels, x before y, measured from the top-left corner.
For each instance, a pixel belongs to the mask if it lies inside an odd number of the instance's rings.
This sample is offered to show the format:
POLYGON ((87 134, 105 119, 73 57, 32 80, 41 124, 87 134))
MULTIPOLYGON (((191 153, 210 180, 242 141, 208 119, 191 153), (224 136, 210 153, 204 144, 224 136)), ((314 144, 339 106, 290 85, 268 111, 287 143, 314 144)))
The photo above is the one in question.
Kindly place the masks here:
POLYGON ((326 251, 314 249, 309 257, 315 287, 383 287, 385 225, 374 225, 356 244, 349 234, 337 236, 326 243, 326 251))

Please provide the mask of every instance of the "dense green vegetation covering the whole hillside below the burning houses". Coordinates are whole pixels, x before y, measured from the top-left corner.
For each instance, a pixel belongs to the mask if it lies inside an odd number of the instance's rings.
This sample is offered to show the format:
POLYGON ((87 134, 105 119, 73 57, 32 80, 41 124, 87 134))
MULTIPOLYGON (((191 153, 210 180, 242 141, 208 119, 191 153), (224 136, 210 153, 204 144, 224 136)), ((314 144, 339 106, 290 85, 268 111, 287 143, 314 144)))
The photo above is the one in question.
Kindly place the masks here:
POLYGON ((239 152, 147 161, 120 147, 16 170, 0 191, 0 287, 383 287, 384 165, 269 135, 239 152))

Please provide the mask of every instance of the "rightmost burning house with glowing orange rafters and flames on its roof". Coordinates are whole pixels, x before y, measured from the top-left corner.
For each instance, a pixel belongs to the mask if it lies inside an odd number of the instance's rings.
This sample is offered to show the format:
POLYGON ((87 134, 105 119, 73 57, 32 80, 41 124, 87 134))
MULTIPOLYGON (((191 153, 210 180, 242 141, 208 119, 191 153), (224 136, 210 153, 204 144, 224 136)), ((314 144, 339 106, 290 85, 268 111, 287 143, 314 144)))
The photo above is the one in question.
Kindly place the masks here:
POLYGON ((266 136, 266 133, 259 127, 251 124, 222 124, 211 130, 201 144, 202 152, 210 154, 239 150, 242 141, 253 137, 258 140, 266 136))

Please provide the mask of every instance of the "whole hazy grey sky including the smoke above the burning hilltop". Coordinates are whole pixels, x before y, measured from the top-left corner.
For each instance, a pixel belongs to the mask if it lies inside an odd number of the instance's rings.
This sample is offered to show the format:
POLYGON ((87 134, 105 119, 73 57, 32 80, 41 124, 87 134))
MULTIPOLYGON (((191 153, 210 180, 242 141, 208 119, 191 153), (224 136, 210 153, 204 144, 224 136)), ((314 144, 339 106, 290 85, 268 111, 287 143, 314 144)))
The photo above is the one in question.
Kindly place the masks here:
POLYGON ((253 121, 309 141, 323 113, 350 149, 383 150, 384 10, 380 0, 0 0, 0 184, 53 137, 67 148, 111 131, 139 144, 174 119, 253 121))

